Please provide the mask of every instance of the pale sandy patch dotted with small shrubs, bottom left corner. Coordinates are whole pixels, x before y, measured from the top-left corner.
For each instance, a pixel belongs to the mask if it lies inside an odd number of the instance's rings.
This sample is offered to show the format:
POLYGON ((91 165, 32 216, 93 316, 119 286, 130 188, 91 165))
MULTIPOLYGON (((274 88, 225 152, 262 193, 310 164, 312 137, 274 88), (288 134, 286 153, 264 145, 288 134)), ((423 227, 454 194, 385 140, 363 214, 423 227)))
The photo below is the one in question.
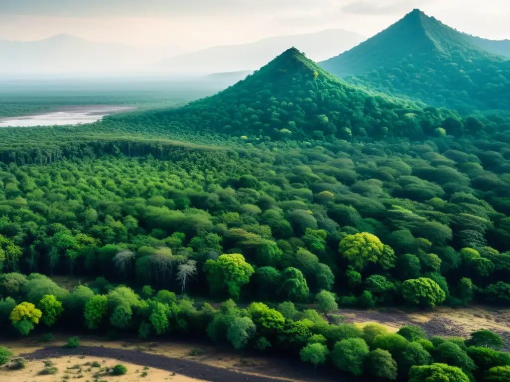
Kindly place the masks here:
POLYGON ((83 356, 71 356, 62 358, 49 358, 44 361, 30 361, 27 366, 21 370, 9 370, 0 368, 0 380, 3 382, 54 382, 57 380, 83 378, 82 380, 107 380, 111 382, 138 382, 138 381, 172 381, 172 382, 198 382, 198 379, 186 377, 184 375, 168 372, 167 370, 155 369, 123 362, 127 368, 127 373, 120 376, 111 375, 104 370, 106 367, 113 367, 119 362, 108 358, 94 358, 83 356), (44 361, 52 363, 52 367, 57 368, 55 374, 40 375, 39 372, 45 369, 44 361), (99 362, 100 367, 91 367, 92 362, 99 362), (88 365, 86 365, 88 364, 88 365), (103 371, 101 371, 103 370, 103 371), (98 373, 98 375, 95 375, 98 373), (142 373, 146 373, 142 377, 142 373), (67 378, 66 378, 67 379, 67 378))

